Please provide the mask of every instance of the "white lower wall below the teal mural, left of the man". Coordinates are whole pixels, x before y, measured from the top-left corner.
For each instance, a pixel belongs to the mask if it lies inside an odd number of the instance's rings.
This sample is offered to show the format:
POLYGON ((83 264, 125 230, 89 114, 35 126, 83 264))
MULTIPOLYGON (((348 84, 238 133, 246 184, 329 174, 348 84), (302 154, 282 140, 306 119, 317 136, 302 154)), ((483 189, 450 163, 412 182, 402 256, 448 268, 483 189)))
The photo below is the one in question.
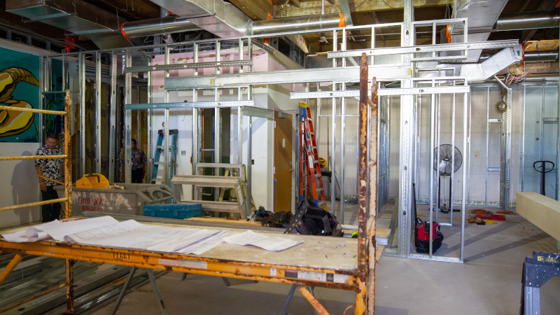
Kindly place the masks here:
MULTIPOLYGON (((0 144, 0 156, 35 155, 39 144, 0 144)), ((35 160, 13 160, 0 163, 0 207, 41 201, 35 160)), ((41 206, 0 212, 0 228, 41 221, 41 206)))

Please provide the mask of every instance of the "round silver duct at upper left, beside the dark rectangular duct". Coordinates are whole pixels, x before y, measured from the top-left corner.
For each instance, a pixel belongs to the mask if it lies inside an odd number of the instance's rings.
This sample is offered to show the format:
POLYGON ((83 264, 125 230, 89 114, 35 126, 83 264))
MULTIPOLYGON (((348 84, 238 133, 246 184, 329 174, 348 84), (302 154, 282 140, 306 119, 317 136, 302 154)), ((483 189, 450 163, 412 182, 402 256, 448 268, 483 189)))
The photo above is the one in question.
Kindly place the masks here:
POLYGON ((179 33, 181 31, 197 31, 201 28, 189 20, 176 20, 173 16, 151 20, 124 22, 120 31, 127 38, 179 33))

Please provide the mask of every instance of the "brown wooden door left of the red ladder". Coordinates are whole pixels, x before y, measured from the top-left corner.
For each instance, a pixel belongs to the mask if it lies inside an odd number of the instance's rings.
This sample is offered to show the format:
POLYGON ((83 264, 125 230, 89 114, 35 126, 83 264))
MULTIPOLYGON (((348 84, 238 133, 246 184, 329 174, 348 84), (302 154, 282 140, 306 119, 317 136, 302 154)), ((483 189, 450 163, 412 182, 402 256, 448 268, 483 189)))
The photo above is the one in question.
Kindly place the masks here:
POLYGON ((274 211, 291 211, 292 115, 274 111, 274 211))

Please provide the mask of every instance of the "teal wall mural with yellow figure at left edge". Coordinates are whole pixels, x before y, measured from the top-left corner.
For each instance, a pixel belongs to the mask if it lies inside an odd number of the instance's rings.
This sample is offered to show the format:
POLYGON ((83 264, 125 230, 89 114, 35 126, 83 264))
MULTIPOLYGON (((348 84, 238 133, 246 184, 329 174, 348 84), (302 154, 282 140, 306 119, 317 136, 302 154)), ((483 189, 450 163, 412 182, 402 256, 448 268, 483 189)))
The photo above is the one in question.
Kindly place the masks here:
MULTIPOLYGON (((0 48, 0 105, 40 108, 39 57, 0 48)), ((0 110, 0 142, 37 142, 40 115, 0 110)))

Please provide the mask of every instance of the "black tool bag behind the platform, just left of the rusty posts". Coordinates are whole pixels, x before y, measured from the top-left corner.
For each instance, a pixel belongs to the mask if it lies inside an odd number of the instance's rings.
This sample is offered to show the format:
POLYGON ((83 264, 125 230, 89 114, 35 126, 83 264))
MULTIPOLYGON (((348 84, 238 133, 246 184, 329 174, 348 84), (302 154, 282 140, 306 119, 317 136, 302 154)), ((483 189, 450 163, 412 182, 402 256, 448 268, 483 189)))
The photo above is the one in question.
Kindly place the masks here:
POLYGON ((325 209, 317 207, 313 199, 304 200, 297 207, 297 211, 305 211, 302 217, 302 225, 297 226, 297 232, 303 235, 325 235, 342 237, 342 225, 334 214, 325 209), (307 203, 307 210, 304 210, 307 203))

